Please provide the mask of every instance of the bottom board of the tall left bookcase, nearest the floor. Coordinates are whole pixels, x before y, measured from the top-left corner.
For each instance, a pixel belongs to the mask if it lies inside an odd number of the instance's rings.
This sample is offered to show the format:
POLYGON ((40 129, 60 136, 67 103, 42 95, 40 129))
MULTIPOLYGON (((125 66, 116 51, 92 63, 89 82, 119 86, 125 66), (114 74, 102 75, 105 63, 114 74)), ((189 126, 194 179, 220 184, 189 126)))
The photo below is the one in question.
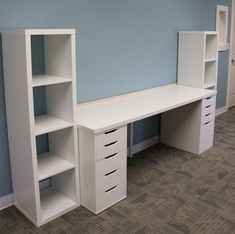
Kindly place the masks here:
POLYGON ((54 188, 44 189, 40 192, 41 223, 52 220, 76 207, 77 203, 61 194, 54 188))

